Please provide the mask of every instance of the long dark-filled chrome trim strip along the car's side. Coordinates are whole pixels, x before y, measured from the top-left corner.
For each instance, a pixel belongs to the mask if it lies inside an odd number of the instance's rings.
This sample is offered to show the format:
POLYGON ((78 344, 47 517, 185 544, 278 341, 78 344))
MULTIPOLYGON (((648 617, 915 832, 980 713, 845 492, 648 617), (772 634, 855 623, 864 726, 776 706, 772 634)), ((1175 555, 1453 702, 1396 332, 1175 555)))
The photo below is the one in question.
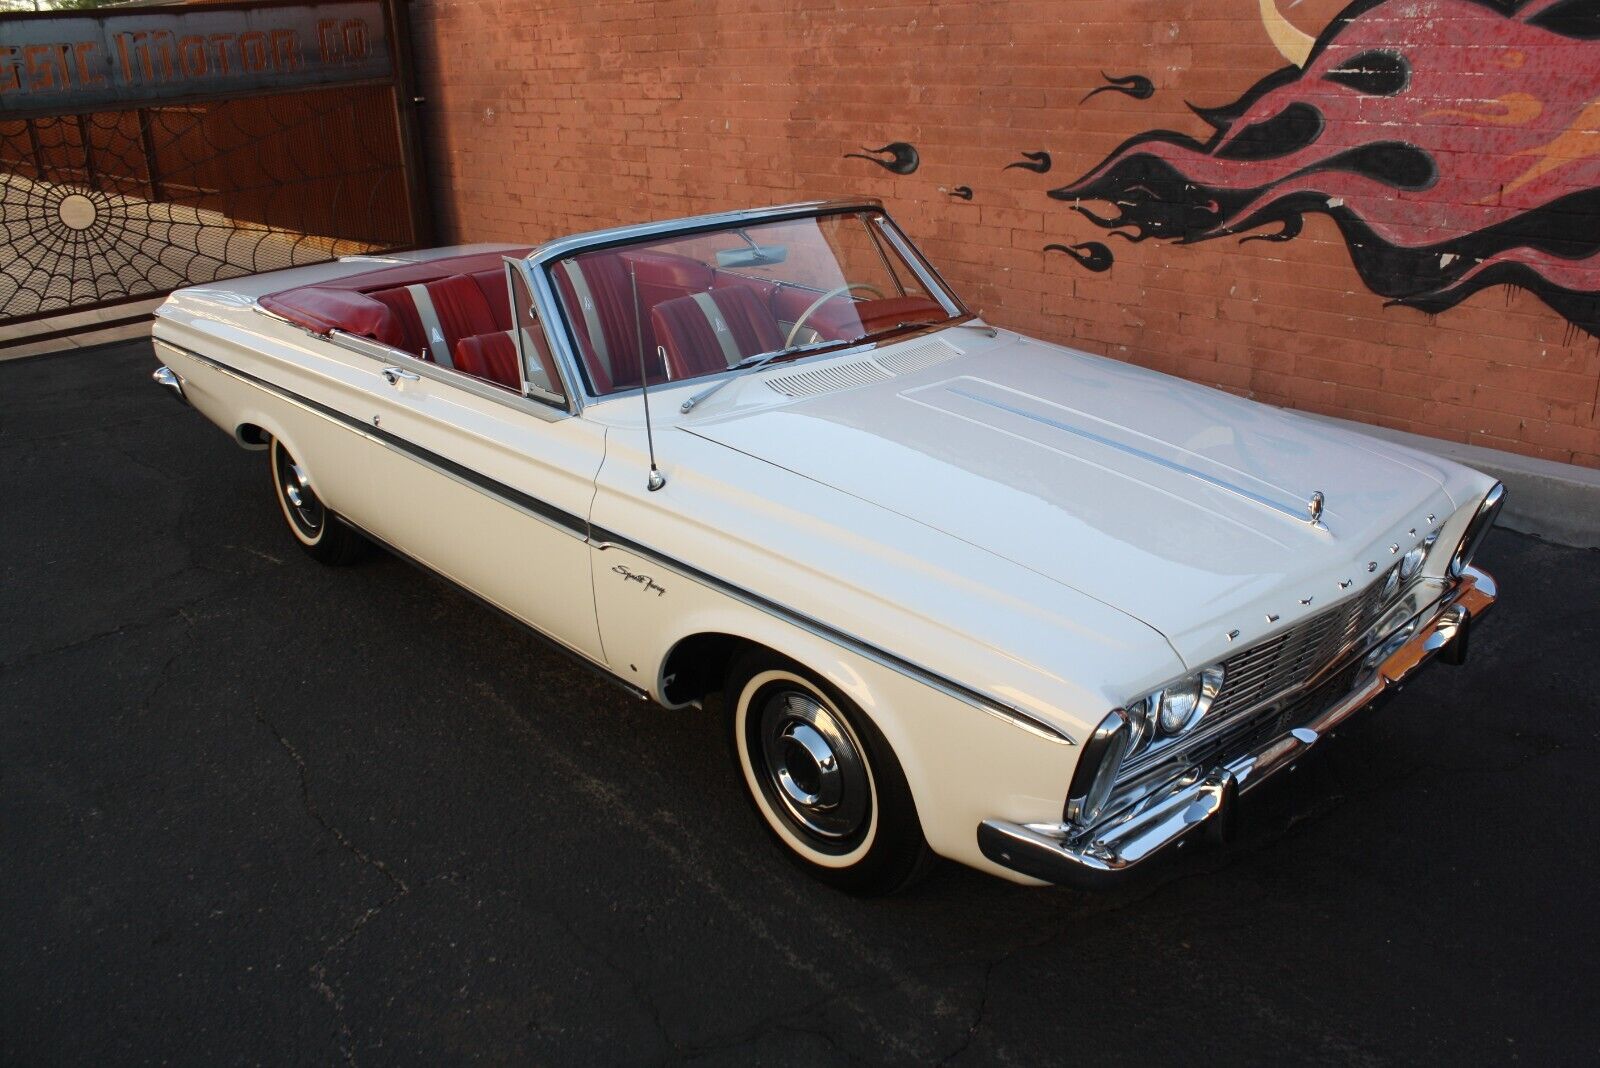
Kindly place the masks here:
MULTIPOLYGON (((1046 739, 1050 742, 1056 742, 1059 745, 1077 745, 1072 735, 1066 734, 1058 726, 1054 726, 1046 719, 1042 719, 1040 716, 1027 713, 1021 708, 1013 708, 1005 702, 995 700, 994 697, 989 697, 987 694, 982 694, 970 686, 963 686, 962 683, 946 678, 944 675, 925 668, 920 664, 899 657, 893 652, 888 652, 886 649, 880 649, 878 646, 874 646, 869 641, 864 641, 861 638, 856 638, 854 635, 838 630, 837 627, 829 627, 827 624, 818 619, 813 619, 803 612, 779 604, 778 601, 771 601, 762 596, 760 593, 752 593, 750 590, 734 585, 733 582, 718 579, 717 576, 707 571, 701 571, 693 564, 686 564, 682 560, 669 556, 667 553, 650 548, 648 545, 627 539, 605 528, 594 526, 584 516, 573 515, 571 512, 558 508, 547 500, 541 500, 514 486, 507 486, 506 483, 480 475, 478 472, 474 472, 458 464, 456 460, 451 460, 450 457, 438 456, 437 452, 424 449, 422 446, 408 441, 398 435, 389 433, 381 427, 373 427, 360 419, 355 419, 354 416, 347 416, 334 408, 314 401, 307 397, 301 397, 299 393, 286 390, 282 385, 274 385, 272 382, 267 382, 266 379, 250 374, 248 371, 240 371, 211 357, 194 352, 192 349, 174 345, 173 342, 165 339, 157 339, 157 344, 168 345, 170 349, 174 349, 187 357, 192 357, 194 360, 198 360, 206 366, 211 366, 224 374, 230 374, 240 379, 242 382, 250 382, 251 385, 258 385, 270 393, 282 397, 283 400, 288 400, 290 403, 306 408, 307 411, 333 419, 357 433, 362 433, 387 448, 395 449, 397 452, 403 452, 411 459, 438 470, 443 475, 448 475, 467 486, 472 486, 474 489, 478 489, 480 492, 490 497, 499 499, 504 504, 509 504, 522 512, 526 512, 528 515, 533 515, 534 518, 552 523, 571 532, 576 537, 586 539, 597 552, 603 552, 606 548, 621 548, 645 556, 648 560, 653 560, 661 566, 675 571, 685 579, 699 582, 726 596, 731 596, 736 601, 741 601, 744 604, 749 604, 750 608, 774 616, 787 624, 800 627, 802 630, 813 633, 818 638, 822 638, 824 641, 837 644, 842 649, 848 649, 858 656, 872 660, 874 664, 878 664, 907 678, 923 683, 925 686, 931 686, 933 689, 949 697, 955 697, 963 703, 968 703, 1013 726, 1022 727, 1030 734, 1037 734, 1038 737, 1046 739)), ((366 534, 366 531, 362 531, 362 534, 366 534)), ((374 537, 373 540, 381 540, 381 539, 374 537)), ((402 552, 400 555, 405 553, 402 552)))

